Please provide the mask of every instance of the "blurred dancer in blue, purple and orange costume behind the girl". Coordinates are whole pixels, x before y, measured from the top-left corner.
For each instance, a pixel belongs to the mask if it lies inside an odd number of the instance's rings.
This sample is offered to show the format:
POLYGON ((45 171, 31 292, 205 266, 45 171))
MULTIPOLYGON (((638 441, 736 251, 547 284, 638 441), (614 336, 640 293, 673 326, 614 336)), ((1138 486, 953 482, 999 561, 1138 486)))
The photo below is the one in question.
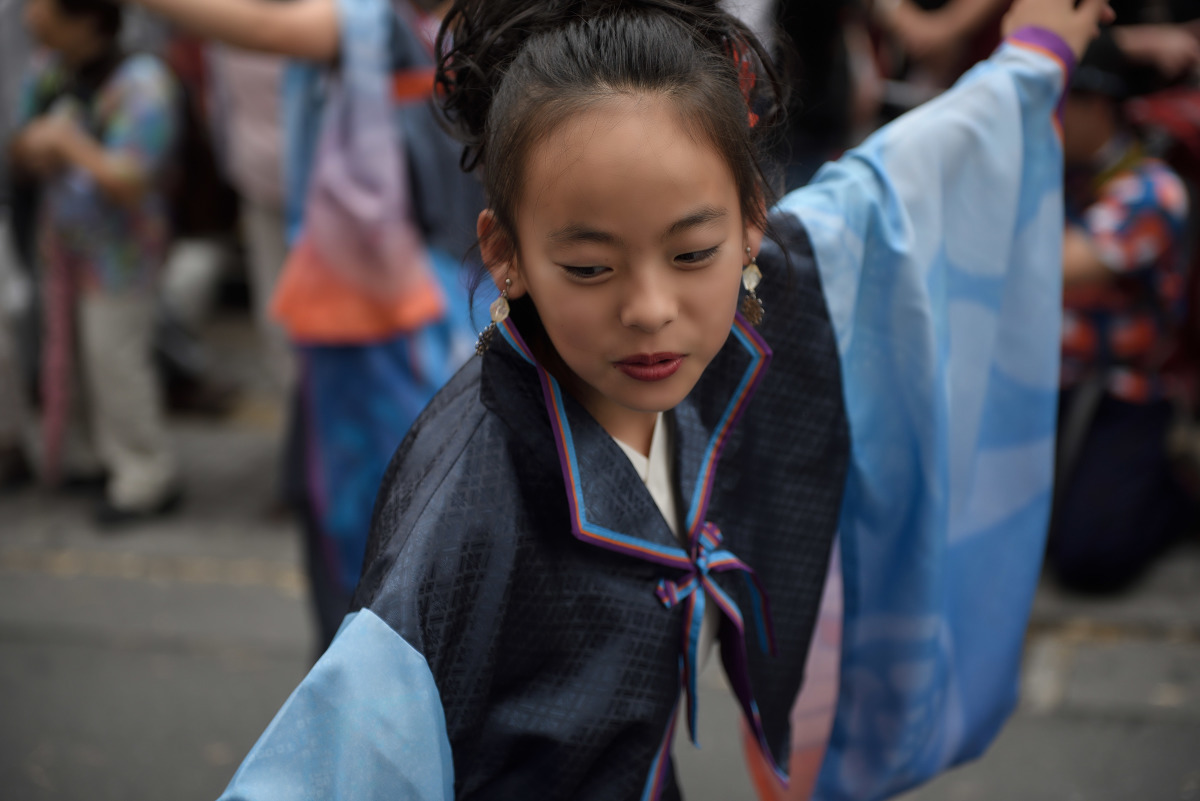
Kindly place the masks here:
POLYGON ((289 483, 323 651, 358 583, 388 462, 475 338, 462 263, 482 189, 431 103, 449 4, 136 2, 199 36, 301 60, 284 76, 292 249, 272 313, 298 353, 289 483))

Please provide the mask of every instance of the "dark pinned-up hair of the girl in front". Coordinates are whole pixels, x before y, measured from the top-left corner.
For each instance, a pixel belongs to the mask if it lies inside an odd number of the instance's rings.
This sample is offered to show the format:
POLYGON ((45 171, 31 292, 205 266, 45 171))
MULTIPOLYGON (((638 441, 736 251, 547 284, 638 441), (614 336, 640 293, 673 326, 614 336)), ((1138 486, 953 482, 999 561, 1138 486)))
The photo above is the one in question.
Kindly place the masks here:
POLYGON ((786 101, 762 46, 718 0, 457 0, 438 36, 442 104, 516 242, 524 159, 605 98, 654 94, 720 151, 742 212, 766 229, 767 132, 786 101))

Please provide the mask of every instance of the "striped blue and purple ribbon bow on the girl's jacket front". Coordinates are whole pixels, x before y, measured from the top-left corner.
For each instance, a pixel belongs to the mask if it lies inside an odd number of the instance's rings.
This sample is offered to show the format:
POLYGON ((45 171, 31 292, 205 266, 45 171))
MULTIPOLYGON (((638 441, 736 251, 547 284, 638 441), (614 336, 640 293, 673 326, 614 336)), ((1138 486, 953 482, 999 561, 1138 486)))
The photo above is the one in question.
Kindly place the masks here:
POLYGON ((745 671, 745 622, 742 618, 742 610, 733 602, 733 598, 713 580, 713 573, 738 571, 745 576, 754 602, 758 644, 764 651, 775 654, 775 636, 770 625, 767 592, 758 577, 745 562, 721 548, 724 541, 721 530, 706 520, 691 534, 688 572, 674 582, 660 579, 655 590, 659 601, 667 609, 673 609, 680 603, 685 604, 683 655, 679 660, 679 668, 683 674, 684 689, 688 693, 688 729, 691 741, 697 746, 700 743, 696 741, 696 676, 700 673, 700 632, 704 622, 707 597, 712 597, 713 603, 737 631, 734 638, 721 638, 721 655, 726 664, 726 673, 730 674, 730 680, 734 683, 739 699, 751 698, 750 679, 745 671), (736 642, 727 642, 730 639, 736 642), (730 670, 731 664, 736 666, 732 671, 730 670))

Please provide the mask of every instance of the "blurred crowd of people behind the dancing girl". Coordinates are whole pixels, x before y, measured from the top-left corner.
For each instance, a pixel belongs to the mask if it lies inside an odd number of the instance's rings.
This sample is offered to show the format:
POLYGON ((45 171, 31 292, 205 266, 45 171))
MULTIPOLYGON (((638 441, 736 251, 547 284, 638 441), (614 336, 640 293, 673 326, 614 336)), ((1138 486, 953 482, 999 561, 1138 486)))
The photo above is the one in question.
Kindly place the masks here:
MULTIPOLYGON (((324 644, 392 451, 472 351, 484 200, 432 103, 446 4, 343 2, 336 34, 288 5, 0 0, 0 492, 95 492, 108 531, 180 513, 167 420, 236 402, 204 337, 240 282, 288 409, 264 502, 302 524, 324 644)), ((985 58, 1007 5, 728 0, 794 82, 781 191, 985 58)), ((1061 116, 1048 566, 1086 591, 1193 531, 1200 493, 1200 2, 1112 5, 1061 116)))

